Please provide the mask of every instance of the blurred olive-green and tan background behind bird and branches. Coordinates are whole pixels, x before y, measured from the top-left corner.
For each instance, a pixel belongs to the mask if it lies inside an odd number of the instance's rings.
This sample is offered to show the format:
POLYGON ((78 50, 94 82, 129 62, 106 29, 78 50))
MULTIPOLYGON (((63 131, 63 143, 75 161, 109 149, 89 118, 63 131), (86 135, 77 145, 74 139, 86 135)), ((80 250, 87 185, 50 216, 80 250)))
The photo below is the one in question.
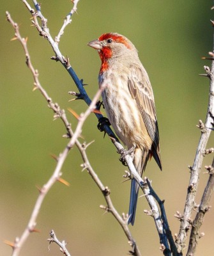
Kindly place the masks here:
MULTIPOLYGON (((52 36, 56 36, 72 7, 70 1, 41 1, 42 12, 48 19, 52 36)), ((29 1, 31 3, 31 1, 29 1)), ((32 3, 31 3, 32 4, 32 3)), ((213 31, 210 19, 212 1, 83 1, 78 15, 65 30, 59 47, 70 57, 77 75, 87 83, 90 97, 95 94, 100 68, 98 54, 86 44, 102 33, 118 32, 127 36, 139 50, 139 57, 148 71, 157 108, 160 127, 160 146, 163 171, 155 161, 148 164, 145 175, 153 180, 158 195, 165 199, 165 208, 172 234, 178 232, 176 211, 183 212, 189 180, 188 165, 194 161, 200 132, 195 127, 204 120, 208 104, 209 81, 198 76, 210 61, 201 60, 212 49, 213 31)), ((26 67, 19 42, 10 39, 13 28, 6 21, 5 11, 20 24, 20 33, 28 37, 31 60, 40 73, 40 82, 50 97, 62 108, 86 110, 84 102, 72 99, 68 91, 75 84, 60 63, 50 60, 52 49, 47 40, 38 36, 31 26, 31 15, 21 1, 1 1, 1 208, 0 251, 11 255, 3 240, 13 241, 22 234, 38 196, 35 185, 42 186, 52 174, 56 163, 50 154, 58 155, 67 143, 62 138, 65 127, 60 120, 53 122, 52 111, 40 92, 33 89, 33 78, 26 67)), ((77 124, 68 113, 72 127, 77 124)), ((96 129, 96 118, 89 116, 82 135, 89 142, 88 156, 103 184, 111 188, 111 197, 120 213, 128 211, 130 182, 123 182, 126 169, 109 138, 96 129)), ((84 141, 82 140, 82 141, 84 141)), ((213 137, 211 140, 213 141, 213 137)), ((210 142, 210 147, 213 144, 210 142)), ((211 164, 211 157, 203 166, 211 164)), ((20 255, 61 255, 52 244, 48 252, 47 238, 53 228, 59 239, 68 242, 72 255, 126 255, 130 247, 121 228, 111 214, 99 208, 105 204, 87 172, 81 172, 82 160, 73 148, 63 166, 63 179, 71 186, 55 184, 43 202, 38 216, 40 233, 29 236, 20 255)), ((202 170, 204 172, 204 170, 202 170)), ((208 179, 201 175, 197 196, 208 179)), ((212 200, 213 202, 213 200, 212 200)), ((211 202, 211 203, 212 203, 211 202)), ((139 199, 134 227, 130 227, 143 255, 160 255, 158 235, 144 197, 139 199)), ((205 237, 200 240, 197 255, 212 255, 213 218, 211 209, 201 228, 205 237)))

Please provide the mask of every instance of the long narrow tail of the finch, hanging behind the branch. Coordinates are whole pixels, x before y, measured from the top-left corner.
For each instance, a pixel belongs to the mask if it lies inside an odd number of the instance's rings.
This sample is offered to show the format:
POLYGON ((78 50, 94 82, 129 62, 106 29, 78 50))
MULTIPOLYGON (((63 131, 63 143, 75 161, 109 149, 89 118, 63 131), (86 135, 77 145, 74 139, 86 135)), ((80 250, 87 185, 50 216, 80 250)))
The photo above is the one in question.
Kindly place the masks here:
MULTIPOLYGON (((146 168, 149 155, 150 155, 149 152, 143 151, 141 148, 135 149, 134 166, 137 172, 139 173, 139 175, 141 176, 142 176, 142 172, 146 168)), ((134 225, 134 222, 135 222, 138 193, 139 193, 139 184, 137 184, 135 179, 132 179, 130 203, 129 203, 129 210, 128 210, 128 216, 129 216, 128 224, 132 223, 132 225, 134 225)))

